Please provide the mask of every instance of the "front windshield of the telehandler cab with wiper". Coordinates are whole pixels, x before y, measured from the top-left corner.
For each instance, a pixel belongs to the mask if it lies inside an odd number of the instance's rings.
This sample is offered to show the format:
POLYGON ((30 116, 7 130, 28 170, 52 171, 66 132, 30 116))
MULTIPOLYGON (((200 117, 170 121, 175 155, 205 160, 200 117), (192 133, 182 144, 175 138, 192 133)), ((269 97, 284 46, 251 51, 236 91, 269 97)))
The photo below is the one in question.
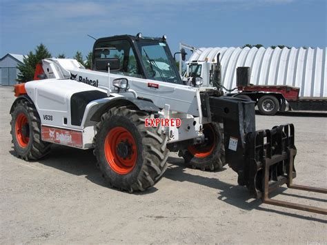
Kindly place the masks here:
POLYGON ((141 62, 150 79, 182 84, 177 66, 166 43, 137 41, 141 62))

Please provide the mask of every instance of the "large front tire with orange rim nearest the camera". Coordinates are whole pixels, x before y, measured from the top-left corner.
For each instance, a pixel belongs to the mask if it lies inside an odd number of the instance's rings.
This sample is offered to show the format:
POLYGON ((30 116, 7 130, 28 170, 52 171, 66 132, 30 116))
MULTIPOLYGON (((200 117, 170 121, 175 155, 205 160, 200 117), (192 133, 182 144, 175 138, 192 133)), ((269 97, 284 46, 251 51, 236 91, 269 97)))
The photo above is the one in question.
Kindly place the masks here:
POLYGON ((167 168, 167 136, 146 127, 147 112, 132 106, 110 109, 101 116, 95 135, 97 166, 111 186, 132 193, 146 190, 167 168))

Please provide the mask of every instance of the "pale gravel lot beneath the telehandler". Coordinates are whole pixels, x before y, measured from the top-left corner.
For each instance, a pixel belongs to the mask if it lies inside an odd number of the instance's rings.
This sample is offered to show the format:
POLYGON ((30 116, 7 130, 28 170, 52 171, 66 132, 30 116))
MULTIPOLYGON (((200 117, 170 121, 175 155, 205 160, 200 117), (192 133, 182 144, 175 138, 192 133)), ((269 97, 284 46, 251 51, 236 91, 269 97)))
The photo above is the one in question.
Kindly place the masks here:
MULTIPOLYGON (((215 173, 193 170, 171 154, 168 170, 155 187, 128 194, 106 186, 90 150, 54 146, 47 159, 18 159, 9 133, 12 88, 0 86, 0 96, 1 244, 327 242, 326 216, 250 199, 228 167, 215 173)), ((327 187, 326 116, 256 116, 258 129, 295 124, 297 184, 327 187)), ((286 188, 277 193, 276 199, 327 208, 319 193, 286 188)))

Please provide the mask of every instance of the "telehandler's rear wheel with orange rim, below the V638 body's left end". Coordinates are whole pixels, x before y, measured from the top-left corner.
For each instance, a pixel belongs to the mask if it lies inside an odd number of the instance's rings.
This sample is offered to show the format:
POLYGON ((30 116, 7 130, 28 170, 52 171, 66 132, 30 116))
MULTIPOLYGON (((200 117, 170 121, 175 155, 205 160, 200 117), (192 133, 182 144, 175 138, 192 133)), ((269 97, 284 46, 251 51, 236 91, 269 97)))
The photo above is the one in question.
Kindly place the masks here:
POLYGON ((41 140, 41 120, 37 109, 26 100, 18 101, 11 113, 12 143, 22 159, 38 160, 50 152, 50 143, 41 140))

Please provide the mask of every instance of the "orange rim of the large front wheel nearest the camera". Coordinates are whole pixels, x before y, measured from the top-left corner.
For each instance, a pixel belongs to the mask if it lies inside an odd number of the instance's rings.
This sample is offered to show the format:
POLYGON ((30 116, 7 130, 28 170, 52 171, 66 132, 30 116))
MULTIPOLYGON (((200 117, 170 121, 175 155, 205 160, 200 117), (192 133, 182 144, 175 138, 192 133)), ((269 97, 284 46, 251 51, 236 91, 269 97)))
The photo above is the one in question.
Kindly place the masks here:
POLYGON ((112 128, 104 142, 104 153, 107 162, 116 173, 130 173, 137 162, 137 145, 135 139, 126 128, 112 128))

